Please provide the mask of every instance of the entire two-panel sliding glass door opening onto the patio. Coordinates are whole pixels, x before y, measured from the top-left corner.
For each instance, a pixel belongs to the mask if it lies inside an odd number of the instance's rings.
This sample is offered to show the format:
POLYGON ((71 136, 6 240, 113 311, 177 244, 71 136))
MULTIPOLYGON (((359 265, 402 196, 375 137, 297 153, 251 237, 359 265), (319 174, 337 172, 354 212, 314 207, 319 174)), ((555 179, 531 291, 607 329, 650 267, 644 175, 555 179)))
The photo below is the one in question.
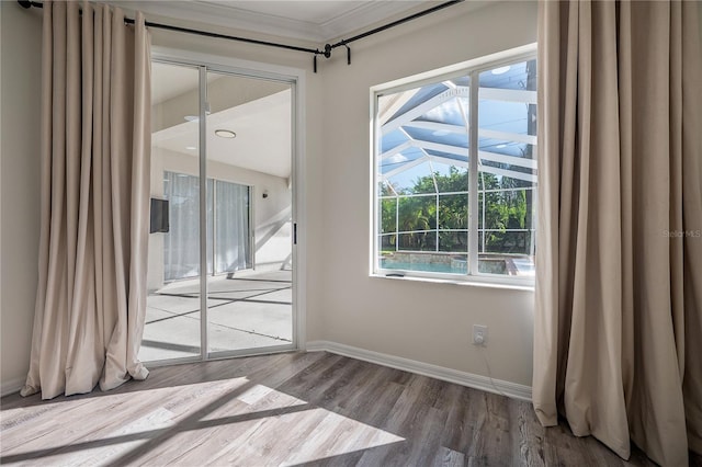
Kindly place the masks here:
POLYGON ((152 64, 143 361, 295 348, 293 86, 152 64))

